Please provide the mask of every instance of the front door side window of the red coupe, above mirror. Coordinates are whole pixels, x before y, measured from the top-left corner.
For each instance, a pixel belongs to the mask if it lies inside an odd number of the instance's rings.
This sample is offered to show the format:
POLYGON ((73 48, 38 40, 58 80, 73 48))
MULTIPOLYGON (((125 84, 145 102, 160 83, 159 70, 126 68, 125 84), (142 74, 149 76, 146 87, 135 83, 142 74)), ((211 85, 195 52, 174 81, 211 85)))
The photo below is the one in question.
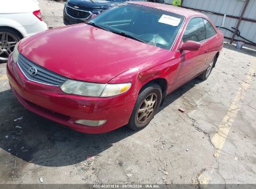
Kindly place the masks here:
POLYGON ((193 40, 201 42, 206 39, 206 29, 202 18, 194 18, 187 24, 186 30, 183 35, 183 42, 193 40))

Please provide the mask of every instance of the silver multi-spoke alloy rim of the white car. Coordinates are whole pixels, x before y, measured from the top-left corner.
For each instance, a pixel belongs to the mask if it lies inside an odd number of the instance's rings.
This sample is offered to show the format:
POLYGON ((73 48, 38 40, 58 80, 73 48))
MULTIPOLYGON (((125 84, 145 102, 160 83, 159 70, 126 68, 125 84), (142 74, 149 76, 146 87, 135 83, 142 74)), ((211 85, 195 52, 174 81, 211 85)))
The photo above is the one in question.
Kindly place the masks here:
POLYGON ((0 32, 0 60, 8 59, 17 42, 19 42, 19 38, 16 35, 0 32))

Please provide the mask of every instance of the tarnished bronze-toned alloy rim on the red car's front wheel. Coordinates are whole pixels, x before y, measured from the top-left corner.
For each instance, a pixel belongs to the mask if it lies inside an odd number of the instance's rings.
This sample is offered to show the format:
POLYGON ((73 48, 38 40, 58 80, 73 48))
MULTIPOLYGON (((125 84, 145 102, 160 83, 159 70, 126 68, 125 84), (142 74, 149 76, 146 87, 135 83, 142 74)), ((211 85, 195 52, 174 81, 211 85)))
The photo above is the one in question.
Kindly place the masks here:
POLYGON ((156 93, 151 93, 141 103, 136 116, 140 124, 147 122, 151 118, 154 109, 156 109, 157 101, 158 96, 156 93))

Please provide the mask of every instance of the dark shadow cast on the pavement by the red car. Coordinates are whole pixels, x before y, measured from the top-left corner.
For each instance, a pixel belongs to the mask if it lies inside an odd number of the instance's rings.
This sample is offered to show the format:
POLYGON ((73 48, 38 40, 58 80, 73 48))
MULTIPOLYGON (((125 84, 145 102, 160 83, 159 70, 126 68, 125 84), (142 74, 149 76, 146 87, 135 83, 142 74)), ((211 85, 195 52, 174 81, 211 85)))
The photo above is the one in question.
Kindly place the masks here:
MULTIPOLYGON (((159 111, 199 82, 192 80, 167 96, 159 111)), ((23 108, 10 90, 0 93, 0 102, 0 147, 26 162, 37 165, 60 167, 77 164, 135 133, 127 127, 107 134, 83 134, 73 131, 23 108), (22 119, 14 121, 21 117, 22 119)))

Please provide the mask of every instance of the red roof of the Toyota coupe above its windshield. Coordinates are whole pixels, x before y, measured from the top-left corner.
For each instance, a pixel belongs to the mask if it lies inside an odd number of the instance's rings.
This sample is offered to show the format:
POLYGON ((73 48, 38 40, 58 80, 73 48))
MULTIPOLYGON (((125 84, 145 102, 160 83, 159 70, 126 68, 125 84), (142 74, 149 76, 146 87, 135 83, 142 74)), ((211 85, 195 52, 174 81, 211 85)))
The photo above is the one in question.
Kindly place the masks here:
POLYGON ((195 16, 208 18, 207 16, 205 16, 200 12, 192 11, 191 9, 185 9, 183 7, 176 7, 171 4, 160 4, 156 2, 145 2, 145 1, 130 1, 129 3, 139 4, 141 6, 153 7, 155 9, 160 9, 163 11, 173 12, 175 14, 185 16, 186 18, 195 17, 195 16))

